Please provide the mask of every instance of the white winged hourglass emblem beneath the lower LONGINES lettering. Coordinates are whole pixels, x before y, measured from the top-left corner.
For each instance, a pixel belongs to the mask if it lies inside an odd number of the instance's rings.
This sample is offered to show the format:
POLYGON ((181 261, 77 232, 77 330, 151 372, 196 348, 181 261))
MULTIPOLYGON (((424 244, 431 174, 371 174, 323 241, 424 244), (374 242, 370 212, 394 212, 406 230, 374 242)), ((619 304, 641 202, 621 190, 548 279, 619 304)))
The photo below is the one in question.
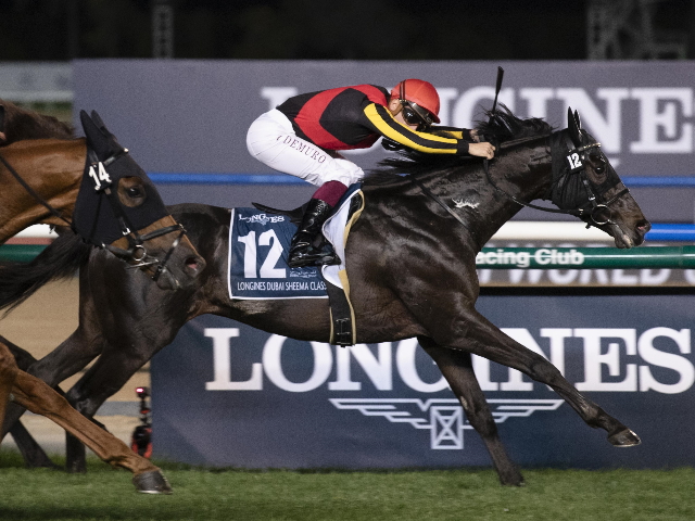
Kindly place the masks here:
MULTIPOLYGON (((391 423, 409 423, 430 431, 430 448, 464 448, 464 430, 472 425, 455 398, 329 398, 338 409, 358 410, 364 416, 381 416, 391 423), (429 415, 428 415, 429 412, 429 415)), ((561 399, 489 399, 495 423, 509 418, 528 418, 539 410, 556 410, 561 399)))

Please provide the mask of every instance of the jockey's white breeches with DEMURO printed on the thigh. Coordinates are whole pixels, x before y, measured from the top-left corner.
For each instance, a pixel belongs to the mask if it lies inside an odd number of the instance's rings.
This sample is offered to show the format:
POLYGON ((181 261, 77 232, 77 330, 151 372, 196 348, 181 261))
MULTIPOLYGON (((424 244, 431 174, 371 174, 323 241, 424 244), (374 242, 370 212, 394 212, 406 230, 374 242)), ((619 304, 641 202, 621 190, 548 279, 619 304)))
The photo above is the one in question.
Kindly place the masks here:
POLYGON ((320 187, 340 181, 346 187, 358 181, 365 173, 338 153, 329 155, 294 134, 292 124, 277 109, 256 118, 247 134, 249 153, 270 168, 300 177, 320 187))

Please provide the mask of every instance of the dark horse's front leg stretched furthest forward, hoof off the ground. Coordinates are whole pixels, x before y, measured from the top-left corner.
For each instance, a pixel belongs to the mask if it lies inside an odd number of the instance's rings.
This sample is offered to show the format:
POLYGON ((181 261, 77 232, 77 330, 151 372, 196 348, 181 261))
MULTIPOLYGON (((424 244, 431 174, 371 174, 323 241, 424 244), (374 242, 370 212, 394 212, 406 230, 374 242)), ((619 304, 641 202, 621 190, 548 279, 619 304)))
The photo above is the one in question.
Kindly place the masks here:
POLYGON ((577 391, 548 360, 504 334, 472 306, 466 306, 455 298, 446 307, 445 295, 438 296, 443 308, 455 310, 454 317, 429 316, 422 322, 439 345, 472 353, 517 369, 536 382, 549 385, 590 427, 604 429, 612 445, 630 447, 640 444, 640 437, 634 432, 577 391))

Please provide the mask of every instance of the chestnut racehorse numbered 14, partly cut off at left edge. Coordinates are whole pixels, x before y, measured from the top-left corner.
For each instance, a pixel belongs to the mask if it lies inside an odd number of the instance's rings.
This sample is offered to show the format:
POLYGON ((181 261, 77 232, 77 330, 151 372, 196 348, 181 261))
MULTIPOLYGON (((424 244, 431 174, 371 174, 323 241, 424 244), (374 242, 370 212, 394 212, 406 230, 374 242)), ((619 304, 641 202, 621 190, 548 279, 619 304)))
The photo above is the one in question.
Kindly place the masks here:
MULTIPOLYGON (((53 264, 51 277, 74 275, 89 252, 85 240, 149 271, 163 289, 189 285, 204 268, 204 259, 168 214, 152 181, 99 115, 92 112, 89 117, 83 112, 80 119, 86 138, 74 139, 72 127, 53 117, 12 103, 0 105, 0 244, 27 226, 45 223, 64 227, 72 220, 81 234, 79 243, 49 260, 53 264)), ((26 278, 24 268, 2 263, 0 279, 26 278)), ((47 280, 35 278, 22 289, 23 295, 14 305, 47 280)), ((134 472, 141 492, 170 491, 155 466, 132 457, 124 443, 75 411, 45 382, 18 370, 10 345, 0 343, 0 418, 4 418, 11 395, 15 403, 81 439, 102 459, 134 472)))

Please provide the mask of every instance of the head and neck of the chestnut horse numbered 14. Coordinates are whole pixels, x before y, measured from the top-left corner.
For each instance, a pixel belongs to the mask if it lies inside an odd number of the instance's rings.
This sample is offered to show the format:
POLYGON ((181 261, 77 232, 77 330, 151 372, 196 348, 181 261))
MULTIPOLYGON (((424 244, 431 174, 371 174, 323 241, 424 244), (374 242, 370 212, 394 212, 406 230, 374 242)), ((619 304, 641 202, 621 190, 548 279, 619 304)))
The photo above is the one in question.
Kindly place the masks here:
POLYGON ((62 139, 20 140, 1 149, 0 244, 31 225, 72 225, 86 241, 148 271, 163 289, 186 285, 200 274, 204 260, 96 112, 80 113, 86 138, 65 139, 70 127, 60 122, 27 111, 17 116, 18 107, 8 107, 0 109, 5 142, 51 132, 62 139))

